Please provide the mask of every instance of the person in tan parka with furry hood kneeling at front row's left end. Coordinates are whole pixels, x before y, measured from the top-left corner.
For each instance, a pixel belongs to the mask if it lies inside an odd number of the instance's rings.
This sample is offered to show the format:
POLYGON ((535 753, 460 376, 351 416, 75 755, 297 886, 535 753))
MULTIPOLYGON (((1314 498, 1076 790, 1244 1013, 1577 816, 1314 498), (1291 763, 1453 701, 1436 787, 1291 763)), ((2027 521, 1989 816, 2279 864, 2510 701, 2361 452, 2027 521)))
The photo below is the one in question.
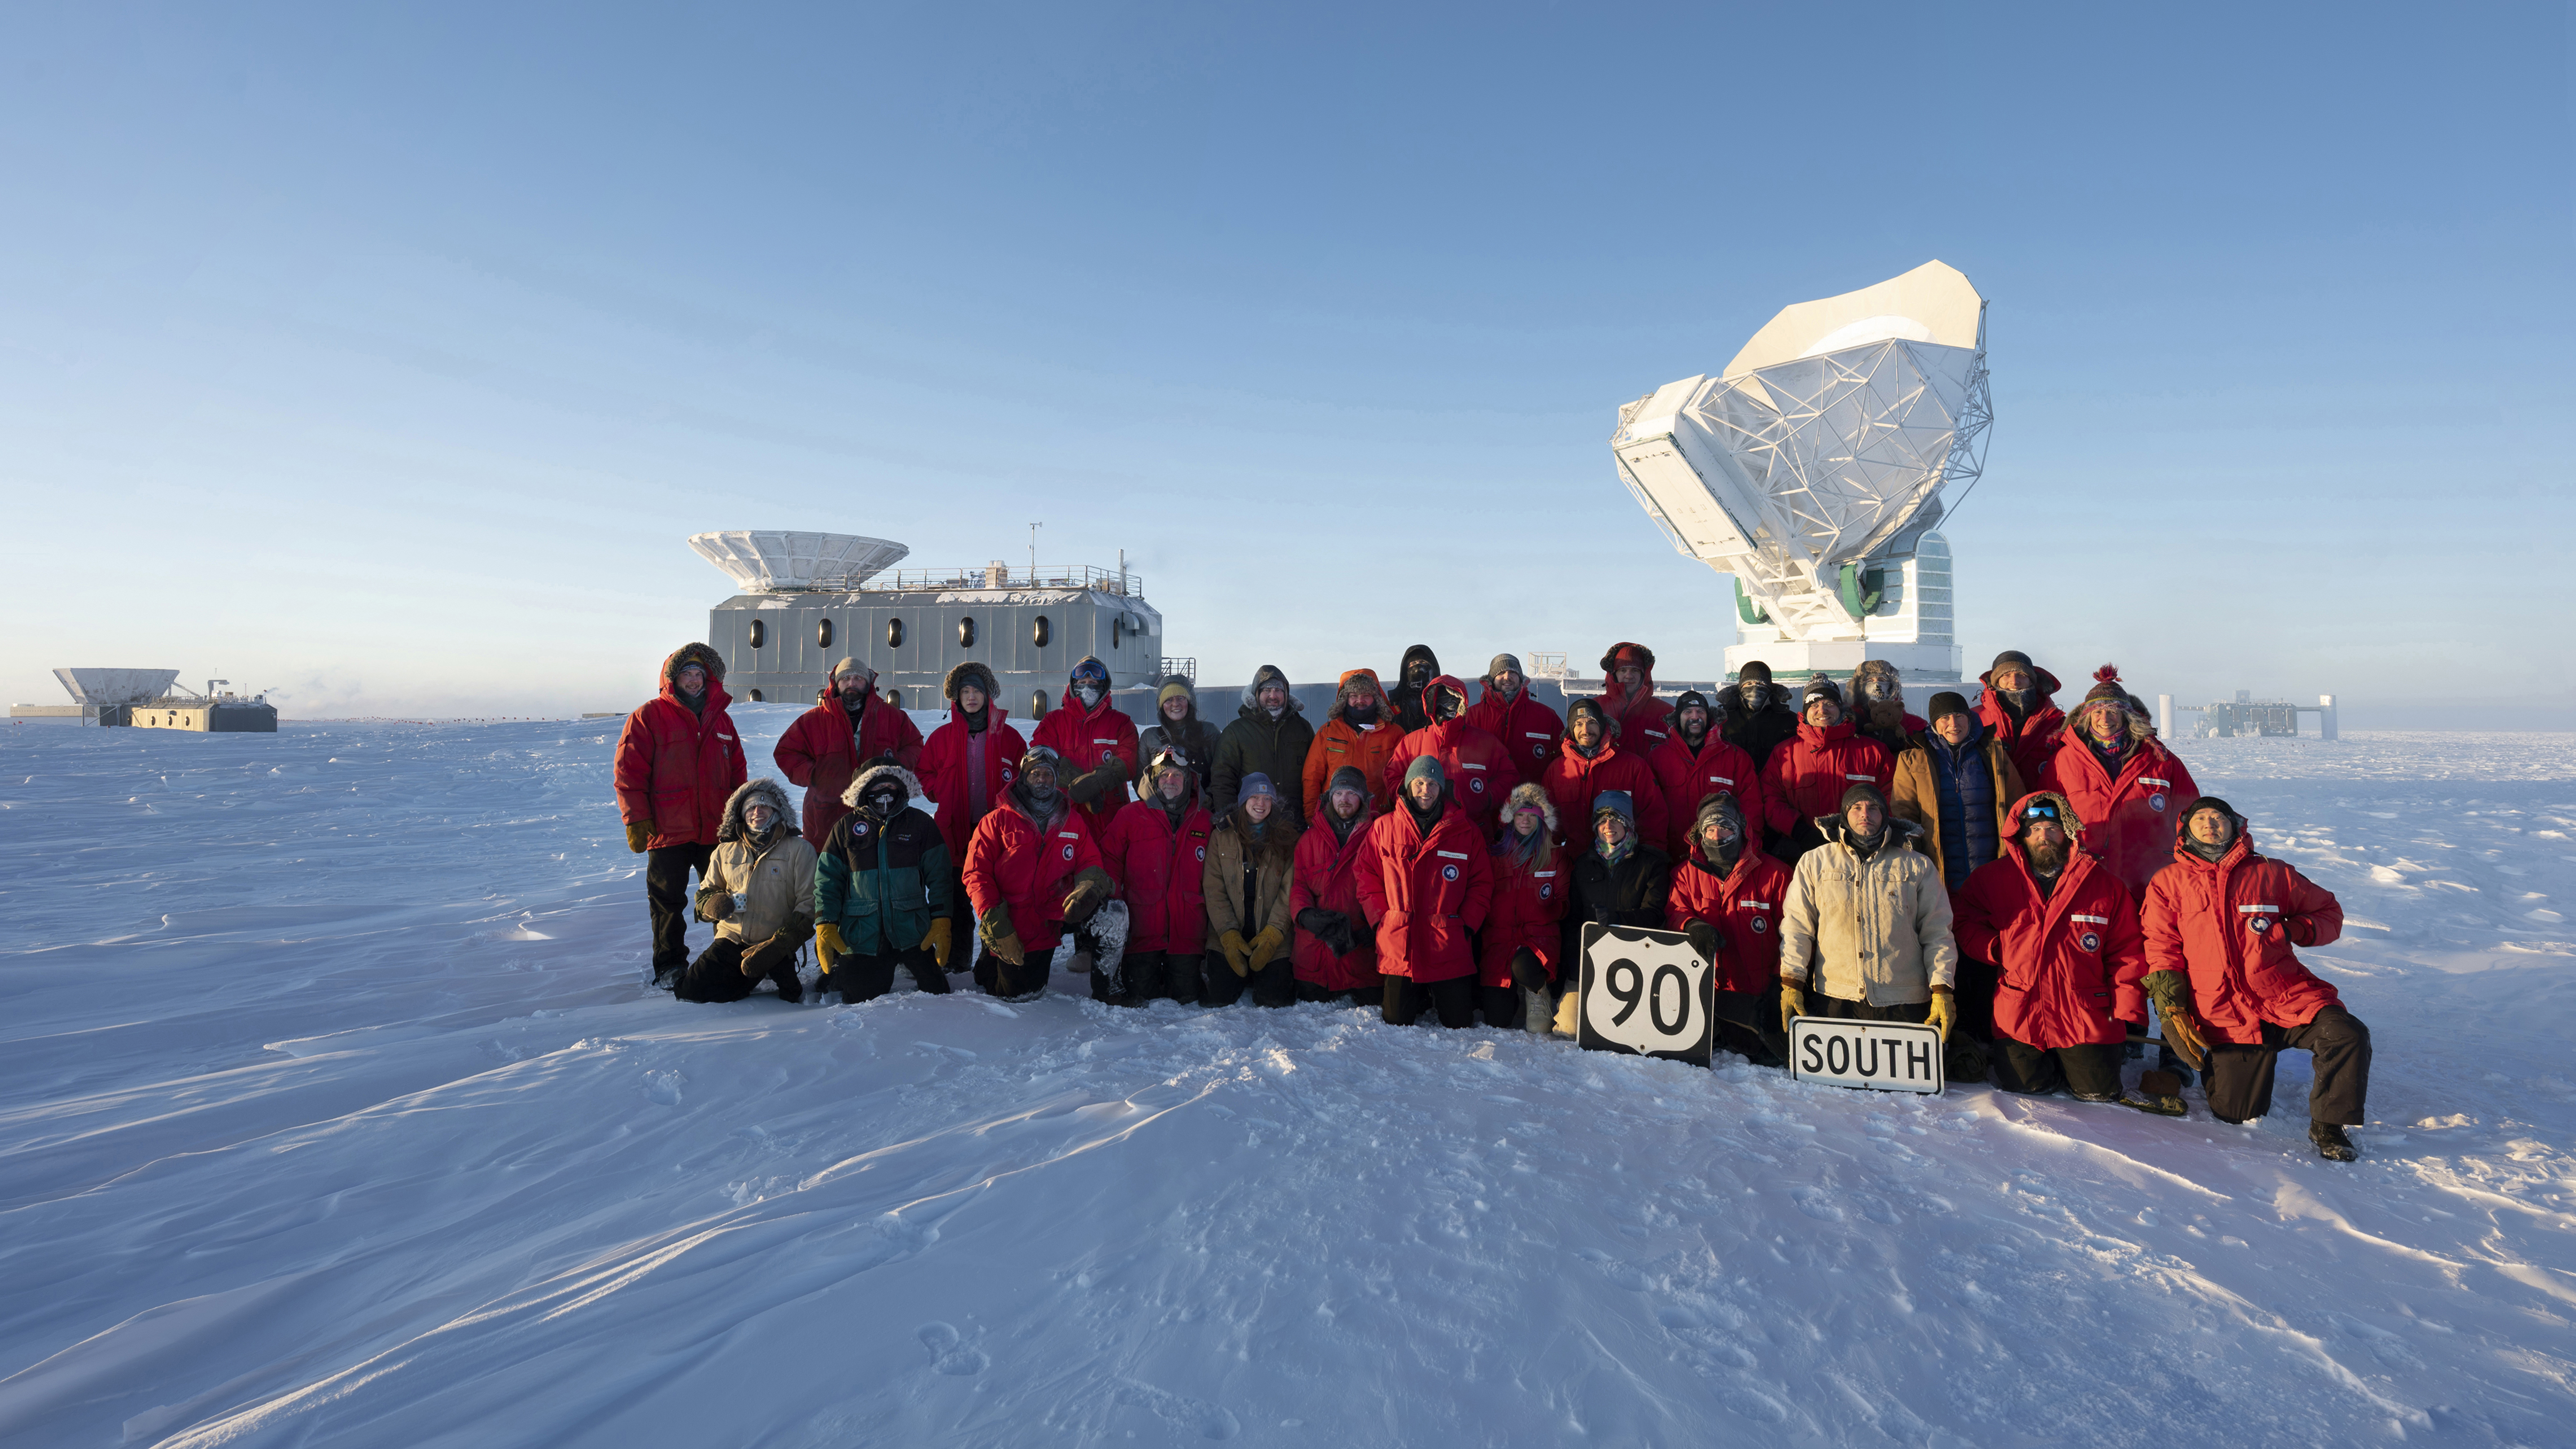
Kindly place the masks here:
POLYGON ((814 847, 788 824, 788 793, 775 780, 752 780, 724 800, 698 919, 716 921, 716 945, 688 963, 672 996, 742 1001, 770 978, 781 999, 804 1001, 796 955, 814 937, 814 847))

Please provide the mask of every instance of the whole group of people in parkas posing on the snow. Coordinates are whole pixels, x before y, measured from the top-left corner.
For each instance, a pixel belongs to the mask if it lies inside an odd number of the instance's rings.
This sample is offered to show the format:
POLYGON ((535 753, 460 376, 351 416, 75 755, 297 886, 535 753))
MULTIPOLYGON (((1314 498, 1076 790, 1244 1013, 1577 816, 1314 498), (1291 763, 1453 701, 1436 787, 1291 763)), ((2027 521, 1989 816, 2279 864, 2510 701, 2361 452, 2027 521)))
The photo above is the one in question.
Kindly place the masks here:
POLYGON ((2354 1158, 2370 1032, 2295 955, 2342 906, 2254 852, 2117 669, 2066 710, 2004 651, 1976 705, 1937 692, 1924 715, 1886 661, 1795 695, 1754 661, 1669 700, 1646 646, 1602 672, 1558 715, 1512 654, 1471 697, 1414 646, 1394 687, 1345 672, 1321 726, 1262 667, 1221 728, 1170 679, 1139 731, 1084 659, 1023 736, 992 669, 961 664, 922 739, 842 659, 773 752, 799 824, 747 777, 724 661, 688 643, 616 754, 654 978, 799 1001, 811 942, 842 1001, 896 970, 1018 999, 1061 957, 1118 1006, 1345 1001, 1574 1035, 1582 927, 1651 927, 1713 965, 1718 1045, 1762 1066, 1798 1017, 1924 1022, 1953 1081, 2179 1117, 2197 1071, 2210 1112, 2246 1122, 2275 1058, 2308 1050, 2311 1143, 2354 1158), (716 924, 696 960, 690 914, 716 924), (2148 1006, 2164 1055, 2128 1091, 2148 1006))

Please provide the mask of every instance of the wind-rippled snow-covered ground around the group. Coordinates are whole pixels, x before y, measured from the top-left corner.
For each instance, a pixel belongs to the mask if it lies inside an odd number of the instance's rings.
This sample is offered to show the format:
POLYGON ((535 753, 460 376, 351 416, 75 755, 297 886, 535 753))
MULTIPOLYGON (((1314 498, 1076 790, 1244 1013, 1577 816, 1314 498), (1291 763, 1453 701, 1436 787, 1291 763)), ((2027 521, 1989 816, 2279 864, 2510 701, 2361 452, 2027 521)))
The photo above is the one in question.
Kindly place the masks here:
POLYGON ((2184 741, 2349 911, 2334 1166, 2303 1055, 2228 1127, 675 1004, 616 723, 0 734, 0 1441, 2576 1441, 2571 736, 2184 741))

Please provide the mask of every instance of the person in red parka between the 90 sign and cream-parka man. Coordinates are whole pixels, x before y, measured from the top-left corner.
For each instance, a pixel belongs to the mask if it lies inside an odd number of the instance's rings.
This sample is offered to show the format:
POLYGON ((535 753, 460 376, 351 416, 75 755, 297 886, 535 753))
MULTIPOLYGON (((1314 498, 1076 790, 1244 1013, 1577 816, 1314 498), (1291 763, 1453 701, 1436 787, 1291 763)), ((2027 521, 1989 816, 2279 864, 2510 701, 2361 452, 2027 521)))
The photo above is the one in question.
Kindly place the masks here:
POLYGON ((1708 981, 1718 1045, 1754 1066, 1788 1066, 1780 901, 1790 870, 1762 849, 1749 816, 1726 790, 1700 798, 1687 839, 1664 898, 1664 927, 1687 934, 1690 950, 1716 968, 1708 981))

